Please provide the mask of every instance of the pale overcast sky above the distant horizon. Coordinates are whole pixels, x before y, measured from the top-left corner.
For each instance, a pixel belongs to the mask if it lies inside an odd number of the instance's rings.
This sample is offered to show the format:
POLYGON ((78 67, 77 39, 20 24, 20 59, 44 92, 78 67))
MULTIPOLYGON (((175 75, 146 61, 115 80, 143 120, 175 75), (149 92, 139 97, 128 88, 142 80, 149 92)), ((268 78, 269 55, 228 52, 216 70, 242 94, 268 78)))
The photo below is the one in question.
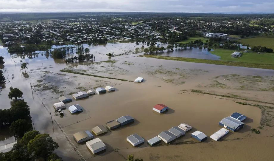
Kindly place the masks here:
POLYGON ((274 13, 274 0, 0 0, 0 12, 274 13))

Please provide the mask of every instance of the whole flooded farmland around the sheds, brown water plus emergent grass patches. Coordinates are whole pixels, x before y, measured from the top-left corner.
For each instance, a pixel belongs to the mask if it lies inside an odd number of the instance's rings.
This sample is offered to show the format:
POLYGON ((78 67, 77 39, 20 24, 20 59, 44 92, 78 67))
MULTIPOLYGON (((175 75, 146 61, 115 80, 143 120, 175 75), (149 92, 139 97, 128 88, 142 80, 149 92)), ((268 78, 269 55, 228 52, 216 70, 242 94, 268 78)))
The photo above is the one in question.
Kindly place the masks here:
MULTIPOLYGON (((108 45, 105 46, 106 52, 110 50, 108 45)), ((20 74, 20 58, 11 58, 4 49, 1 49, 2 55, 6 62, 4 76, 10 78, 7 87, 1 91, 1 109, 10 107, 8 88, 13 86, 21 89, 23 98, 30 106, 35 129, 51 134, 59 144, 57 154, 64 160, 78 159, 71 146, 75 146, 85 160, 126 160, 129 154, 144 160, 274 158, 273 70, 138 57, 140 54, 110 59, 104 53, 102 59, 97 59, 100 57, 97 56, 96 61, 85 64, 65 64, 53 58, 38 59, 44 57, 39 55, 37 59, 27 60, 28 70, 41 67, 41 63, 51 68, 29 71, 29 78, 24 78, 20 74), (14 79, 11 74, 15 75, 14 79), (143 77, 145 81, 132 82, 137 77, 143 77), (63 117, 55 114, 52 104, 59 102, 58 97, 107 85, 114 86, 116 91, 72 100, 66 103, 63 117), (158 103, 169 106, 169 110, 162 114, 154 112, 152 107, 158 103), (83 112, 70 114, 67 108, 73 104, 81 105, 83 112), (49 111, 56 121, 53 128, 49 111), (239 132, 230 132, 221 141, 209 138, 221 128, 218 126, 219 121, 233 112, 247 116, 244 128, 239 132), (104 152, 93 155, 85 144, 78 145, 73 139, 72 135, 76 132, 91 130, 124 115, 134 117, 134 123, 97 136, 106 145, 104 152), (170 144, 161 142, 155 147, 147 144, 147 140, 161 131, 184 122, 193 127, 185 136, 170 144), (252 133, 251 128, 259 129, 261 134, 252 133), (204 143, 198 143, 190 137, 190 133, 196 130, 208 136, 204 143), (138 147, 129 144, 126 137, 134 133, 143 137, 145 143, 138 147), (66 136, 73 145, 66 141, 66 136)), ((1 139, 1 145, 13 142, 13 137, 9 138, 6 136, 1 139)))

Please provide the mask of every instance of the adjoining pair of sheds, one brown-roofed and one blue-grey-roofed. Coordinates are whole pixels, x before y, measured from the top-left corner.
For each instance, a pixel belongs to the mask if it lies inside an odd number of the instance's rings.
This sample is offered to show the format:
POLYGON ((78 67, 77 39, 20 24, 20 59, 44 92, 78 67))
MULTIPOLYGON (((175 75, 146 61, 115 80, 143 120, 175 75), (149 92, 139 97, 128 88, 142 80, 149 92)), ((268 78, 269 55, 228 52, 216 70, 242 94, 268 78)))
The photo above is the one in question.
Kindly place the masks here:
POLYGON ((128 123, 131 123, 131 122, 134 122, 134 118, 131 117, 130 115, 126 115, 126 116, 122 116, 116 120, 109 121, 105 125, 106 125, 107 129, 113 130, 120 126, 124 126, 128 123))

